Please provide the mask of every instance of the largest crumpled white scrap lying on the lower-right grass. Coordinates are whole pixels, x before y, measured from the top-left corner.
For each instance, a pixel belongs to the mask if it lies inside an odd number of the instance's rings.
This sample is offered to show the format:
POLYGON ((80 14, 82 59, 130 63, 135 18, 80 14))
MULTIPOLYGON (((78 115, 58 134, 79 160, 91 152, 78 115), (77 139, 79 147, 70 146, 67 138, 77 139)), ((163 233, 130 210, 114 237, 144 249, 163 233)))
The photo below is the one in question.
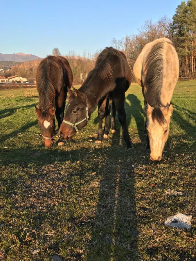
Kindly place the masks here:
POLYGON ((190 220, 192 219, 191 215, 186 215, 178 212, 175 216, 170 216, 168 217, 164 224, 166 226, 172 226, 172 227, 178 227, 180 229, 186 228, 190 229, 191 228, 191 223, 190 220))

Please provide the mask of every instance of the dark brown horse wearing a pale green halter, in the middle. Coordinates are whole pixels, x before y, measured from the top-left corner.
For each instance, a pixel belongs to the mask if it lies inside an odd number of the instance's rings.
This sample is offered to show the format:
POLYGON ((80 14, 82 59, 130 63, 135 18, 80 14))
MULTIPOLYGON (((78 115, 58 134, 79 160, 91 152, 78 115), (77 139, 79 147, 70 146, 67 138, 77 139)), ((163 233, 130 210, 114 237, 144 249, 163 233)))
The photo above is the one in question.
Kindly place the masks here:
POLYGON ((62 140, 73 137, 76 131, 87 125, 93 108, 98 104, 99 127, 96 143, 101 142, 102 124, 105 119, 104 138, 109 133, 110 99, 112 99, 112 133, 115 132, 115 115, 123 128, 123 136, 127 148, 133 148, 127 130, 126 113, 124 108, 125 92, 131 84, 131 69, 123 52, 105 48, 98 56, 95 68, 88 74, 82 86, 76 90, 68 90, 68 104, 64 120, 59 129, 62 140))

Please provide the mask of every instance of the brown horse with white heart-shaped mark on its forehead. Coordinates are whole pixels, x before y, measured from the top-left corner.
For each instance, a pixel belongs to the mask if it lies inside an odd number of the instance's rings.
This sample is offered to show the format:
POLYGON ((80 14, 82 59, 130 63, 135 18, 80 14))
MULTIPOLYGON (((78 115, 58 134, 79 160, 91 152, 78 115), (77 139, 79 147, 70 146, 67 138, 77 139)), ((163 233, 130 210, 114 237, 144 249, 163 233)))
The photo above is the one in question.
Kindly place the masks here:
POLYGON ((55 116, 58 127, 64 117, 67 89, 71 88, 73 75, 69 62, 62 56, 48 56, 37 69, 36 84, 39 109, 35 106, 38 124, 47 148, 52 148, 55 133, 55 116))

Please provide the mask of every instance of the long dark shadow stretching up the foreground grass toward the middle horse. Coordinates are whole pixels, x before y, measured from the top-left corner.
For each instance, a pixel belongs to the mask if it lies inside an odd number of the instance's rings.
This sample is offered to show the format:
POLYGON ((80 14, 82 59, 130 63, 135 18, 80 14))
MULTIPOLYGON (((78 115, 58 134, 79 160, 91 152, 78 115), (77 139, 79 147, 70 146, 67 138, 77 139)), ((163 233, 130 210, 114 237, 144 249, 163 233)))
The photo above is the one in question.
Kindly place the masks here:
MULTIPOLYGON (((119 130, 114 137, 110 148, 113 157, 106 154, 108 160, 101 171, 99 200, 87 252, 89 261, 136 260, 138 256, 135 181, 131 170, 133 162, 119 157, 119 130)), ((131 158, 131 152, 127 150, 127 153, 131 158)))

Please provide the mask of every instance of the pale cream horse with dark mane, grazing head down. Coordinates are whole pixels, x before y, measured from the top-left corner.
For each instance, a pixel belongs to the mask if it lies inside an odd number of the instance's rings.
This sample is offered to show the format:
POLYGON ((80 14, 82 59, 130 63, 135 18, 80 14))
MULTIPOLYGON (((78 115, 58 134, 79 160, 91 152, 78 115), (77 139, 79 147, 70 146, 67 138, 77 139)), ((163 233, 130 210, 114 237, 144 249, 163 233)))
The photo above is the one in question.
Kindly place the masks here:
POLYGON ((160 38, 146 44, 134 64, 133 74, 142 86, 145 100, 146 149, 150 149, 152 161, 159 161, 168 139, 173 112, 170 101, 179 76, 178 55, 172 42, 160 38))

